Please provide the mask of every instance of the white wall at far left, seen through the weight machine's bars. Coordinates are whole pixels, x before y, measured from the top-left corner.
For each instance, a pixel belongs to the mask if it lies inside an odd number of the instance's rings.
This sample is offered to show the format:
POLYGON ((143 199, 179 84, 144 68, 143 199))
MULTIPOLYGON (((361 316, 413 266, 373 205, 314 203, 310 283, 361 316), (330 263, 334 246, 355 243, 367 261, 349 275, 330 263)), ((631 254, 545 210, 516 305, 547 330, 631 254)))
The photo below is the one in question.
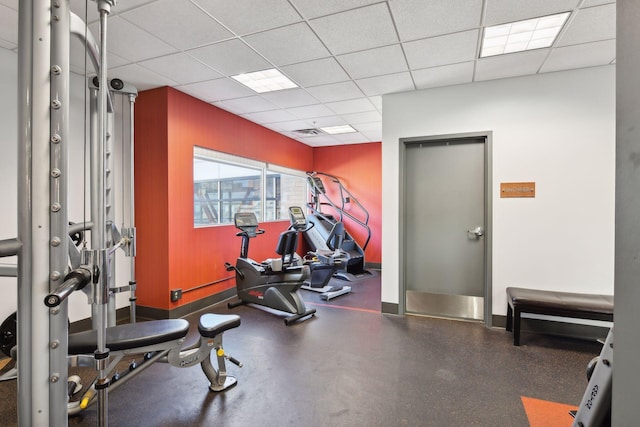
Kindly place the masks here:
MULTIPOLYGON (((18 94, 18 55, 15 52, 0 48, 0 195, 2 196, 2 209, 0 210, 0 240, 16 238, 17 229, 17 160, 18 160, 18 116, 17 116, 17 94, 18 94)), ((89 193, 83 186, 83 154, 84 154, 84 101, 85 80, 82 76, 72 74, 71 86, 71 106, 70 106, 70 148, 69 148, 69 220, 81 222, 85 215, 83 201, 89 206, 89 193)), ((117 107, 117 105, 116 105, 117 107)), ((88 106, 87 106, 88 111, 88 106)), ((128 126, 128 125, 127 125, 128 126)), ((88 124, 86 125, 88 132, 88 124)), ((116 127, 114 133, 119 134, 120 128, 116 127)), ((116 153, 116 164, 120 164, 119 152, 116 153)), ((87 172, 88 173, 88 172, 87 172)), ((116 174, 115 189, 121 188, 119 178, 121 174, 116 174)), ((88 178, 87 178, 88 180, 88 178)), ((88 181, 87 181, 88 182, 88 181)), ((116 203, 119 204, 120 199, 116 203)), ((116 208, 117 225, 120 227, 121 207, 116 208)), ((87 208, 86 215, 91 214, 87 208)), ((87 217, 90 220, 90 217, 87 217)), ((121 251, 119 251, 121 253, 121 251)), ((0 263, 16 264, 13 258, 0 258, 0 263)), ((129 261, 124 256, 118 254, 116 271, 116 285, 124 286, 129 280, 129 261)), ((17 279, 0 277, 0 323, 17 308, 17 279)), ((87 303, 87 298, 81 292, 70 297, 69 319, 76 320, 91 317, 91 308, 87 303)), ((117 307, 128 304, 128 293, 118 294, 117 307)))

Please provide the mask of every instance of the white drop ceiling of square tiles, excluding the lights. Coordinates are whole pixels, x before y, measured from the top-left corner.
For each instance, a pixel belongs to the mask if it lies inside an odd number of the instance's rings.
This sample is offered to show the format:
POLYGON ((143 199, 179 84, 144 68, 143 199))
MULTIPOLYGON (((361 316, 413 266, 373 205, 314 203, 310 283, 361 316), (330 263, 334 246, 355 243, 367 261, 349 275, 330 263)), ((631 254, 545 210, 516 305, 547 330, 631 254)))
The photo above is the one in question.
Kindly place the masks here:
MULTIPOLYGON (((97 36, 95 2, 70 3, 97 36)), ((314 147, 376 142, 384 94, 613 64, 615 13, 611 0, 119 0, 109 77, 171 86, 314 147), (559 12, 571 15, 551 48, 478 58, 484 27, 559 12), (230 78, 267 68, 300 87, 258 94, 230 78), (342 124, 358 132, 295 132, 342 124)), ((18 0, 0 0, 0 47, 17 50, 17 27, 18 0)), ((79 42, 71 62, 85 73, 79 42)))

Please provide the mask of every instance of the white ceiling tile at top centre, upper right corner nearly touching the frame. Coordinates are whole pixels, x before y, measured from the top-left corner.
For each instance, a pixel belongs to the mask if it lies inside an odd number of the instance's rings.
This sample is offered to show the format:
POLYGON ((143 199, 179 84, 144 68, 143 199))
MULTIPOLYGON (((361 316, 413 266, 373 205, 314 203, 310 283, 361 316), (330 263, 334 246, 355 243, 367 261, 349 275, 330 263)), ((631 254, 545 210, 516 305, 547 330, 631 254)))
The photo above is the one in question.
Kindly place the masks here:
POLYGON ((398 41, 386 3, 313 19, 310 24, 335 55, 398 41))

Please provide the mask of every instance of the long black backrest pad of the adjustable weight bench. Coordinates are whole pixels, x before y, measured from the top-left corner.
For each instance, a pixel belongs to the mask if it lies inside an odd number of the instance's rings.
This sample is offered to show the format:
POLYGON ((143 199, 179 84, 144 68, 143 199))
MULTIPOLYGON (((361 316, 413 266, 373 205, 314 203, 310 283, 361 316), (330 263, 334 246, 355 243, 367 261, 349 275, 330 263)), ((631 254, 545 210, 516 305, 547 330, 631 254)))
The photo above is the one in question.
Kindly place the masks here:
MULTIPOLYGON (((189 322, 184 319, 151 320, 107 328, 107 347, 111 351, 156 345, 187 336, 189 322)), ((69 334, 69 354, 90 354, 98 346, 97 331, 69 334)))

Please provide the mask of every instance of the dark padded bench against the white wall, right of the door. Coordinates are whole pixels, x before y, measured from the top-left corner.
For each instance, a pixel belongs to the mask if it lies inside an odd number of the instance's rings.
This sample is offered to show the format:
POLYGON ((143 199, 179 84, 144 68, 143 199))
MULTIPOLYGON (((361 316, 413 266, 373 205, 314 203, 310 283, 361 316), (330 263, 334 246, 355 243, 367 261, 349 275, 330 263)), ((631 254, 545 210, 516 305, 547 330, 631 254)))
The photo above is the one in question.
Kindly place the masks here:
POLYGON ((507 331, 513 345, 520 345, 522 313, 613 322, 613 296, 507 288, 507 331))

